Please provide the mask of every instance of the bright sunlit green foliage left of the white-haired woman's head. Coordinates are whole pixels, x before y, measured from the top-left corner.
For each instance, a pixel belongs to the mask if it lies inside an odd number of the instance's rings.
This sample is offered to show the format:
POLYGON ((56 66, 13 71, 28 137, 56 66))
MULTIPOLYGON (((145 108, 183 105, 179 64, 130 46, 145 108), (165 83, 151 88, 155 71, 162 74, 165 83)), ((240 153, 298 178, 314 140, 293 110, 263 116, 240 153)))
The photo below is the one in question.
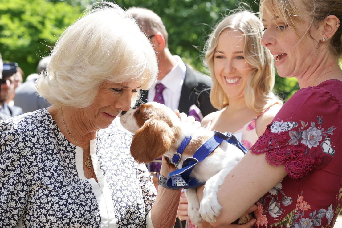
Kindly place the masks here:
POLYGON ((46 0, 0 0, 0 53, 25 76, 35 73, 64 29, 83 15, 80 6, 46 0))

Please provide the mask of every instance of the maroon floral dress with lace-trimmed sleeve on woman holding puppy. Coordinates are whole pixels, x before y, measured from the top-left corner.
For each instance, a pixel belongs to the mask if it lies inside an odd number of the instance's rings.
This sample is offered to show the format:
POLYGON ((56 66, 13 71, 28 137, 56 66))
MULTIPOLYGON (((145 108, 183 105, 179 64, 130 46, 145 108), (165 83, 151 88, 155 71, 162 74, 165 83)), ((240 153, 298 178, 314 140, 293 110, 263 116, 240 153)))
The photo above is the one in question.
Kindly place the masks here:
POLYGON ((333 227, 342 207, 342 82, 300 89, 251 147, 288 175, 258 202, 255 227, 333 227))

